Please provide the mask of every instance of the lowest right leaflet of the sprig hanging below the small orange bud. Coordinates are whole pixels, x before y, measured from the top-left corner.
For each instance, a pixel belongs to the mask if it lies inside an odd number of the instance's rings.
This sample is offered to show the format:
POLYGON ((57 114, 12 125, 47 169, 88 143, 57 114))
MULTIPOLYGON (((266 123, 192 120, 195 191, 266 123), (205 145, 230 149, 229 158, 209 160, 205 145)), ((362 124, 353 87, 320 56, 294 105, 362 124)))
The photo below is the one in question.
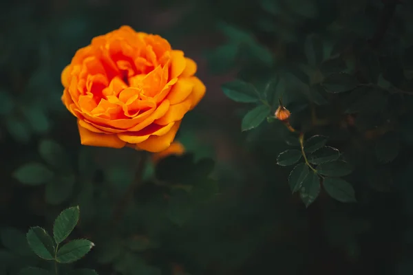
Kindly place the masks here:
POLYGON ((341 202, 355 202, 354 189, 344 179, 326 177, 323 182, 324 189, 333 199, 341 202))

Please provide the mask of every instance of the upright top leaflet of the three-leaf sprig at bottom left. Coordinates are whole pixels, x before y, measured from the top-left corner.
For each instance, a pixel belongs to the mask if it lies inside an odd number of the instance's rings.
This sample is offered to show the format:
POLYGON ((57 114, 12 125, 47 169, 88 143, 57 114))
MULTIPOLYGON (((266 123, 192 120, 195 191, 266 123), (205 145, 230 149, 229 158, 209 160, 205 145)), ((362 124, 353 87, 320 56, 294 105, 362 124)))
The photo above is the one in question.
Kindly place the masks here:
POLYGON ((79 220, 79 207, 71 207, 63 210, 54 221, 53 237, 56 243, 61 243, 74 230, 79 220))

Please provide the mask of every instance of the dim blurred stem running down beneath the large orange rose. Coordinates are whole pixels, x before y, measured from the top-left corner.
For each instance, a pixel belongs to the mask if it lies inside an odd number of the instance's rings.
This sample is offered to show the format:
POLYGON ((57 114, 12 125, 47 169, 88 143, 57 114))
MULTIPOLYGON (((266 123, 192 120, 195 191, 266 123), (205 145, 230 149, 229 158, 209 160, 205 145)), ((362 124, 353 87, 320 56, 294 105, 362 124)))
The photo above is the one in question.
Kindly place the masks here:
POLYGON ((142 152, 142 154, 140 155, 138 167, 136 168, 135 179, 129 185, 129 187, 125 191, 125 194, 120 199, 118 206, 116 206, 114 210, 114 215, 112 219, 113 225, 116 225, 123 217, 123 214, 125 214, 129 202, 131 201, 131 199, 134 198, 135 190, 142 184, 142 176, 145 171, 145 164, 147 162, 148 156, 149 155, 146 152, 142 152))

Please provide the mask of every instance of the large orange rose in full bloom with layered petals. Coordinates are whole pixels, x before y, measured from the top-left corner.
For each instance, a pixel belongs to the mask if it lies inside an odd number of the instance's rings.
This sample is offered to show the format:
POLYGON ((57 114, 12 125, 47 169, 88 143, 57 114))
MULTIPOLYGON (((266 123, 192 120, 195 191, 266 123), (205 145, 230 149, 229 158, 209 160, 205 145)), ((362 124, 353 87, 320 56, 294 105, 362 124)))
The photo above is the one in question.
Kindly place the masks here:
POLYGON ((196 69, 162 37, 123 26, 76 52, 62 72, 62 100, 81 144, 160 152, 205 94, 196 69))

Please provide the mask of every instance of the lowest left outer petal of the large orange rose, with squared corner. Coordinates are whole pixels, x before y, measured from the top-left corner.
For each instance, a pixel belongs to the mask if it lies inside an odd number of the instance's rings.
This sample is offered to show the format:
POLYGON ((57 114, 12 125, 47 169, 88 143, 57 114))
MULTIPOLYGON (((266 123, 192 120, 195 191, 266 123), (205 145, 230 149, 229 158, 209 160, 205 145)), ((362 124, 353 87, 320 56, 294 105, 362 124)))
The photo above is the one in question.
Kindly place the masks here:
POLYGON ((126 142, 119 140, 115 134, 94 133, 83 128, 80 124, 78 124, 78 129, 83 145, 122 148, 126 144, 126 142))

